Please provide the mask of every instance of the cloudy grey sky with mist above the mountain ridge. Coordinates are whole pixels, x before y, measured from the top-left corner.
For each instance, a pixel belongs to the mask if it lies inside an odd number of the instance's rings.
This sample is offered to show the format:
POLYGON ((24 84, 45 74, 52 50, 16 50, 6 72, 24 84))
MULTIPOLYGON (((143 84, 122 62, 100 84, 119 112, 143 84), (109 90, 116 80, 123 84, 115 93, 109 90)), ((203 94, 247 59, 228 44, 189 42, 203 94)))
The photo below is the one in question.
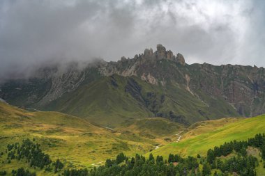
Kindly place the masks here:
POLYGON ((263 0, 1 0, 0 78, 51 61, 118 61, 158 43, 186 63, 265 67, 263 0))

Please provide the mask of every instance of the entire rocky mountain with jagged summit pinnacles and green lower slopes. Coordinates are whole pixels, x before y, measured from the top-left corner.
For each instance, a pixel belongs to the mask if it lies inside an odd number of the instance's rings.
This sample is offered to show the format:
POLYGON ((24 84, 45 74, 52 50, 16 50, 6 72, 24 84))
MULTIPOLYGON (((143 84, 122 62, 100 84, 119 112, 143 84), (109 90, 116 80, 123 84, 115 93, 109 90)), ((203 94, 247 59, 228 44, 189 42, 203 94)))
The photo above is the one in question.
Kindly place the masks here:
POLYGON ((15 106, 60 111, 107 127, 151 117, 191 125, 265 113, 263 67, 188 65, 162 45, 117 62, 39 67, 29 79, 6 80, 0 89, 0 97, 15 106))

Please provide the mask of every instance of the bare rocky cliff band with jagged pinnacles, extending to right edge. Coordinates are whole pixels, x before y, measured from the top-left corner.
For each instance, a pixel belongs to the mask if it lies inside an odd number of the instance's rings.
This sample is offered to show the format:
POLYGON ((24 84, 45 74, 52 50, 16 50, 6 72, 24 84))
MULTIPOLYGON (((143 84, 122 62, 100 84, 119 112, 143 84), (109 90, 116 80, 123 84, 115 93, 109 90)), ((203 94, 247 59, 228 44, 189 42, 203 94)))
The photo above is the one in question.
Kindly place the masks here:
POLYGON ((181 54, 174 56, 172 51, 158 45, 157 51, 146 49, 144 54, 135 58, 109 63, 102 72, 104 75, 136 75, 149 83, 165 86, 178 83, 192 95, 203 91, 210 96, 221 96, 239 112, 249 117, 265 113, 265 70, 263 67, 242 65, 186 65, 181 54))

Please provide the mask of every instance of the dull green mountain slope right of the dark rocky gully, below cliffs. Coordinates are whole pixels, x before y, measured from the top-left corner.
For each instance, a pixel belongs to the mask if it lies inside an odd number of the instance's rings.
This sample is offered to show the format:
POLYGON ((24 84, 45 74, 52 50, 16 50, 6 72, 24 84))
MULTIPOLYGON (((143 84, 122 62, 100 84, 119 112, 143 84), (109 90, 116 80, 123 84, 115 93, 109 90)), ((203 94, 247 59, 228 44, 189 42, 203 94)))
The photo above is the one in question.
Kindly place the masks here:
POLYGON ((224 117, 238 117, 239 114, 230 104, 227 104, 223 97, 213 98, 205 93, 192 95, 185 88, 178 84, 167 86, 166 106, 162 106, 161 111, 172 112, 169 118, 185 117, 189 125, 198 121, 213 120, 224 117), (199 97, 198 97, 199 95, 199 97), (171 117, 173 116, 173 117, 171 117))

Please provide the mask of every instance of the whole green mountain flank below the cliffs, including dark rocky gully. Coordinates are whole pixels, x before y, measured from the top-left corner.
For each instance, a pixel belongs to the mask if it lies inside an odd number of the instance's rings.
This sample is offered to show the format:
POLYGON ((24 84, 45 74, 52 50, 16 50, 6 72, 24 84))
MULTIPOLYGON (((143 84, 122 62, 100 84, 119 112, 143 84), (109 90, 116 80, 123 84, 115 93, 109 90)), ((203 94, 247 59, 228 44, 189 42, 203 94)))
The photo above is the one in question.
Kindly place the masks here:
MULTIPOLYGON (((199 94, 199 92, 198 92, 199 94)), ((192 95, 178 83, 167 86, 147 83, 139 77, 103 77, 50 102, 44 111, 61 111, 106 127, 126 120, 162 117, 190 125, 194 122, 236 117, 238 113, 222 97, 192 95)))

